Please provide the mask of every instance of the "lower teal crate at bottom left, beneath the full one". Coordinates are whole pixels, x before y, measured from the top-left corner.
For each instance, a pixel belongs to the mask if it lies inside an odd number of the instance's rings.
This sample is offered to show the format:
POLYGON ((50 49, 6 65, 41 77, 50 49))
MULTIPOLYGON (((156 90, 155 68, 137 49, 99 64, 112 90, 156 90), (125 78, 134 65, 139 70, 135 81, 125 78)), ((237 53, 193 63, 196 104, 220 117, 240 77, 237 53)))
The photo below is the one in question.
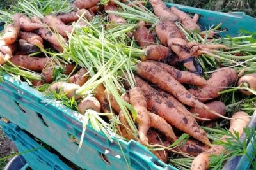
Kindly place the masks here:
MULTIPOLYGON (((64 164, 56 155, 50 153, 45 148, 23 132, 17 125, 12 123, 4 123, 0 121, 0 125, 8 138, 12 139, 13 143, 17 146, 19 152, 23 153, 22 156, 28 163, 22 169, 26 169, 29 165, 31 169, 44 169, 44 170, 71 170, 64 164)), ((10 170, 13 168, 9 168, 10 170)), ((17 170, 17 169, 13 169, 17 170)))

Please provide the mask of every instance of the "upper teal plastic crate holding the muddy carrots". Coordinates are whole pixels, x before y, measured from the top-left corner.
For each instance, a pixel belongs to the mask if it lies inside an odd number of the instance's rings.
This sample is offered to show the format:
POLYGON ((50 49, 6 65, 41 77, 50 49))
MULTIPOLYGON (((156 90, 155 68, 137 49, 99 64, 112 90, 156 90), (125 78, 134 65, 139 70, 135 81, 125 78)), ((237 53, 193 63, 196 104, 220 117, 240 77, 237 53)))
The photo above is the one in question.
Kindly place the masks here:
MULTIPOLYGON (((256 19, 244 13, 227 14, 177 4, 167 5, 204 16, 199 20, 202 28, 222 22, 223 27, 228 29, 222 35, 236 36, 240 27, 248 31, 256 27, 256 19)), ((81 137, 83 116, 61 104, 45 103, 44 95, 29 87, 28 83, 17 81, 7 74, 4 74, 3 79, 0 83, 0 115, 82 169, 125 169, 127 166, 131 169, 176 169, 161 162, 136 141, 117 142, 113 138, 115 142, 111 143, 101 132, 94 131, 91 125, 88 125, 83 147, 77 153, 78 146, 72 142, 70 134, 77 139, 81 137)))

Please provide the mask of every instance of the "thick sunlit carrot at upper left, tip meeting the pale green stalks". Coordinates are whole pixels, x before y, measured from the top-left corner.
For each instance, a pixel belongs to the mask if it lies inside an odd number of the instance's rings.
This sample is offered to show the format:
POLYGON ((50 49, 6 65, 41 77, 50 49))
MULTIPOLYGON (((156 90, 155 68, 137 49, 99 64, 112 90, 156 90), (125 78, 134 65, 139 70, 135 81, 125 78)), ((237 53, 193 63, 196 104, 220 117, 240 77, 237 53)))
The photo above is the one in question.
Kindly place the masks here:
POLYGON ((43 22, 51 27, 51 29, 58 31, 65 38, 68 37, 67 32, 71 33, 73 29, 72 25, 65 25, 64 22, 54 15, 46 15, 43 18, 43 22))

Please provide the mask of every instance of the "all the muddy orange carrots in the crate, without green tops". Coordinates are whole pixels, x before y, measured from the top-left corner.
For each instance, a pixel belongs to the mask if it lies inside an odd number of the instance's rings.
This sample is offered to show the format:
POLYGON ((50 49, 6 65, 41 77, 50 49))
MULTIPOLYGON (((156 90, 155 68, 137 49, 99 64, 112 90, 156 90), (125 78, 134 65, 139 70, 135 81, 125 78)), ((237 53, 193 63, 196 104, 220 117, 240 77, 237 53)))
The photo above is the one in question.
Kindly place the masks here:
MULTIPOLYGON (((228 47, 189 42, 175 22, 180 22, 186 31, 198 31, 203 36, 205 32, 197 24, 199 16, 191 18, 178 8, 167 8, 161 0, 149 2, 159 21, 155 23, 154 31, 148 29, 150 24, 141 20, 138 27, 129 32, 130 35, 127 33, 138 48, 145 50, 145 55, 141 55, 135 66, 135 84, 131 85, 124 79, 120 82, 126 90, 122 94, 120 92, 120 97, 125 103, 131 104, 137 113, 136 117, 132 117, 132 114, 129 116, 138 127, 138 136, 134 136, 122 109, 104 83, 92 89, 90 96, 77 94, 77 90, 92 78, 88 68, 79 67, 76 61, 56 59, 45 53, 50 48, 65 54, 70 37, 76 34, 74 24, 88 27, 94 16, 104 13, 104 10, 117 11, 120 6, 115 1, 103 5, 97 0, 76 0, 76 10, 71 13, 46 15, 42 19, 16 13, 13 24, 6 25, 0 36, 0 64, 14 64, 20 69, 41 74, 41 80, 31 80, 33 86, 49 84, 46 92, 65 94, 70 99, 74 97, 79 102, 77 111, 83 115, 88 110, 113 113, 120 121, 116 125, 118 134, 127 140, 134 139, 144 146, 164 148, 177 141, 182 133, 188 134, 191 138, 184 145, 153 150, 152 153, 164 162, 168 162, 170 153, 192 156, 195 159, 191 169, 207 169, 209 156, 220 155, 225 148, 212 145, 201 125, 224 118, 230 120, 230 132, 236 131, 241 135, 250 116, 239 111, 232 118, 226 117, 226 106, 220 101, 219 92, 226 87, 243 85, 246 89, 240 89, 241 93, 250 96, 253 94, 250 89, 256 89, 256 75, 246 74, 239 78, 235 69, 221 66, 205 79, 196 57, 211 53, 211 50, 228 50, 228 47), (81 17, 86 18, 87 22, 79 20, 81 17), (67 81, 55 81, 55 71, 60 66, 62 73, 68 76, 67 81)), ((137 8, 145 4, 143 1, 123 3, 137 8)), ((107 15, 111 24, 127 24, 128 19, 124 17, 113 13, 107 15)), ((213 38, 214 32, 208 36, 213 38)), ((108 119, 111 118, 108 115, 108 119)), ((220 140, 225 139, 223 136, 220 140)))

